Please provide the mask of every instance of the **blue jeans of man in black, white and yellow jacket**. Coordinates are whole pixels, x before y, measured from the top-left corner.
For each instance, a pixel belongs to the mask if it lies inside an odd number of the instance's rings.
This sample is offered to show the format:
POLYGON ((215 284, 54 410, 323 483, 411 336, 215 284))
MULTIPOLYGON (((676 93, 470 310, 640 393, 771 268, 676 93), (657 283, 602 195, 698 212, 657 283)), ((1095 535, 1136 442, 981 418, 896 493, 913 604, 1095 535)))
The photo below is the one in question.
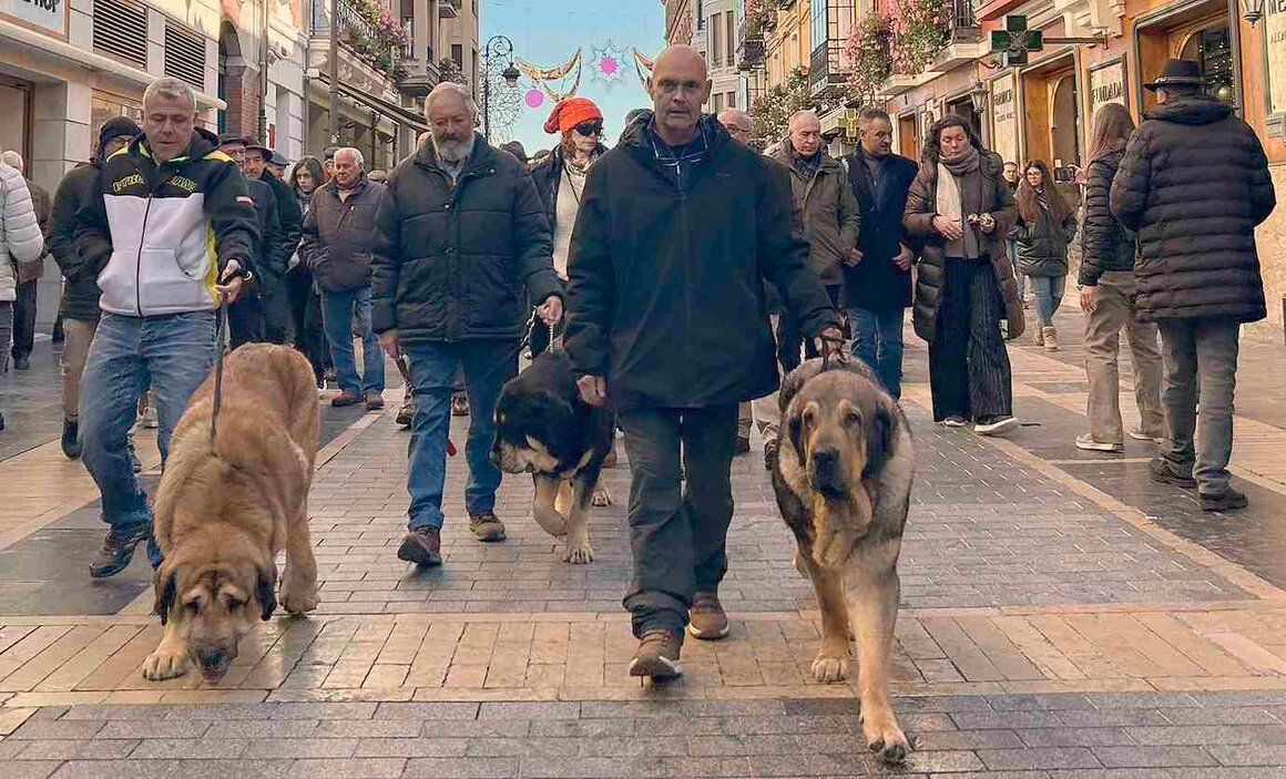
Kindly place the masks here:
MULTIPOLYGON (((126 536, 152 524, 152 509, 126 447, 139 395, 150 387, 163 464, 174 427, 213 363, 213 311, 147 318, 103 314, 81 378, 80 434, 81 458, 103 495, 103 521, 112 533, 126 536)), ((159 564, 156 541, 148 544, 148 557, 159 564)))

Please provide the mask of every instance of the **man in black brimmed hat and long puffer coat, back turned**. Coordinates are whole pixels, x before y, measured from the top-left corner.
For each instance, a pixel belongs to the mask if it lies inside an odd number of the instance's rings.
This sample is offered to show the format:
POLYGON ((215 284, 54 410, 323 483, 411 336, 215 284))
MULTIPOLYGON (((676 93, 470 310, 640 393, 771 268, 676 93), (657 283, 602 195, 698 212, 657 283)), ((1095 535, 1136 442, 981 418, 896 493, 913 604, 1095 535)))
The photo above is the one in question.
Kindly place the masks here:
POLYGON ((1268 158, 1232 105, 1200 94, 1197 63, 1172 59, 1146 85, 1159 105, 1134 131, 1112 180, 1112 213, 1138 233, 1137 315, 1165 356, 1168 441, 1155 481, 1197 487, 1209 512, 1246 505, 1228 486, 1241 323, 1267 314, 1255 226, 1276 207, 1268 158), (1196 388, 1200 438, 1193 449, 1196 388))

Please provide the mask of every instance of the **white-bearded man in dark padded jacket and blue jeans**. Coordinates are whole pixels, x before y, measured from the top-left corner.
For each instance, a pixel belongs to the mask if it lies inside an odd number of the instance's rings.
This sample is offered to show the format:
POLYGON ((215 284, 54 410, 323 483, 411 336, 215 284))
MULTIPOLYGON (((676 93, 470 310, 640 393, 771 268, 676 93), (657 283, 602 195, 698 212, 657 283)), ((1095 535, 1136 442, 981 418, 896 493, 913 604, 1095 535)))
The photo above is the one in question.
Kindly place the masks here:
POLYGON ((409 532, 397 557, 440 566, 446 434, 457 366, 469 419, 464 508, 480 541, 503 541, 495 515, 500 470, 489 454, 500 387, 518 373, 529 311, 548 327, 562 318, 545 208, 527 167, 473 131, 477 105, 458 85, 424 100, 430 138, 388 176, 376 215, 374 330, 385 351, 408 359, 412 422, 409 532))

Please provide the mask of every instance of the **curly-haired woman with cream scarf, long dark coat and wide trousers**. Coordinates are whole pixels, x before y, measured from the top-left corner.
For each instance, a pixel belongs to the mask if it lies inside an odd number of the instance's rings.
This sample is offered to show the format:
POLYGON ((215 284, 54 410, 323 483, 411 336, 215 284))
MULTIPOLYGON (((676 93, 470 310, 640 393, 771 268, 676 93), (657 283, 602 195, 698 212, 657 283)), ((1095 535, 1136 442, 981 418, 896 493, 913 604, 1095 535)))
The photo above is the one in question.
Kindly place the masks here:
POLYGON ((903 226, 919 253, 913 320, 928 343, 934 419, 995 436, 1017 427, 1007 336, 1022 334, 1022 303, 1004 237, 1013 195, 1001 157, 958 116, 934 123, 907 197, 903 226))

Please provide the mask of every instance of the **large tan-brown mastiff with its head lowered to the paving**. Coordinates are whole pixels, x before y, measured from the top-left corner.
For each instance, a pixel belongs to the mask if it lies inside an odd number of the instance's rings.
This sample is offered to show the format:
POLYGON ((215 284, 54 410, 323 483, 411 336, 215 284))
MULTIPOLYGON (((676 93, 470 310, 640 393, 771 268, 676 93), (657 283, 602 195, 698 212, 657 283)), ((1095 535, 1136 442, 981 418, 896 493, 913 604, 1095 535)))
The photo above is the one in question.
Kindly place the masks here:
POLYGON ((143 663, 153 681, 195 659, 222 679, 237 643, 276 608, 276 554, 285 549, 282 605, 316 608, 309 539, 320 416, 312 368, 284 346, 243 346, 224 361, 217 441, 211 445, 215 377, 193 395, 174 431, 156 499, 156 613, 165 632, 143 663))

